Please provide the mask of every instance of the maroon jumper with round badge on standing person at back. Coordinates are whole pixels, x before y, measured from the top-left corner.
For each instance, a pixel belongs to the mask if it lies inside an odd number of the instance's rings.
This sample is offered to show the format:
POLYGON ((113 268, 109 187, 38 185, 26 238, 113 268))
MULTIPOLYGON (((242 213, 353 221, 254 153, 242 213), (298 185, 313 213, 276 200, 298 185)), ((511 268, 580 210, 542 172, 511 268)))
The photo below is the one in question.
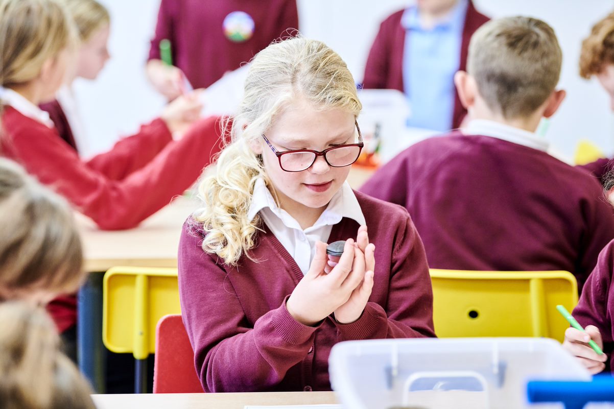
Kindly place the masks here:
POLYGON ((160 59, 160 40, 169 39, 173 63, 192 86, 209 87, 273 40, 292 34, 288 29, 298 29, 296 0, 162 0, 149 60, 160 59), (247 41, 231 41, 224 34, 224 19, 236 11, 254 21, 247 41))

